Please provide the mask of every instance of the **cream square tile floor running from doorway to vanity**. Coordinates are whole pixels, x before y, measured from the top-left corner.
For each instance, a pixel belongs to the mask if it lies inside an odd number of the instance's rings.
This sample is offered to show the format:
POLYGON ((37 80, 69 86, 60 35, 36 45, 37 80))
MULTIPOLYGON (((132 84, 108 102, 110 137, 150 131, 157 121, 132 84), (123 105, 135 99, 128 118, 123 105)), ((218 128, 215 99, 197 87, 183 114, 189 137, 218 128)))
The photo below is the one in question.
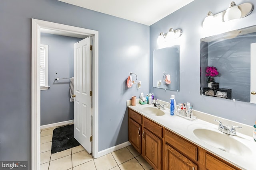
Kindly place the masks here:
POLYGON ((41 170, 154 170, 132 145, 96 159, 81 145, 51 154, 55 128, 41 130, 41 170))

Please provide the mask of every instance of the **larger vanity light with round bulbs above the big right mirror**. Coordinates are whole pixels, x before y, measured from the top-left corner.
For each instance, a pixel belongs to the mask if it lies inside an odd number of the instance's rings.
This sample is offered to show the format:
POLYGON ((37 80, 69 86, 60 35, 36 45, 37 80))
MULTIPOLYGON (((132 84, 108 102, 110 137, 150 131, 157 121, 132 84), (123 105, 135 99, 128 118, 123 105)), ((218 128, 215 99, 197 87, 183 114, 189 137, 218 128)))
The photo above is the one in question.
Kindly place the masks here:
POLYGON ((244 4, 236 6, 236 3, 232 1, 226 11, 222 11, 215 15, 209 11, 202 23, 202 26, 205 28, 216 23, 244 18, 252 12, 253 8, 254 6, 250 2, 246 2, 244 4))

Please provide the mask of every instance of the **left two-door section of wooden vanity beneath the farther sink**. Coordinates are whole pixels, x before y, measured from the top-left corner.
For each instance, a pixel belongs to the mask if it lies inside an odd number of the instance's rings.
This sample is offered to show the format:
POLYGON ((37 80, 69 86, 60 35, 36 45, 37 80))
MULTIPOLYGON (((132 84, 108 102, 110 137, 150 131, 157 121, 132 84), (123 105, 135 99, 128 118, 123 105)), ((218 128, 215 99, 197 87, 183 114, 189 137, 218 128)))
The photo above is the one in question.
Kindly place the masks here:
POLYGON ((130 143, 154 170, 161 170, 163 128, 130 108, 128 115, 130 143))

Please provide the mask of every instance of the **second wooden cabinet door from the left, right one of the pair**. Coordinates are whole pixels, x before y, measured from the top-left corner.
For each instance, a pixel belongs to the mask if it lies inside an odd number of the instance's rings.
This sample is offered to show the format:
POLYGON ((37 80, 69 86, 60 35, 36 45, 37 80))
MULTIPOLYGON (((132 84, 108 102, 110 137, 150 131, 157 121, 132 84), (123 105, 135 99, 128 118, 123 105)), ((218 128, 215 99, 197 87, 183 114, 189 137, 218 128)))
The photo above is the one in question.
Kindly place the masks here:
POLYGON ((162 140, 145 128, 142 132, 142 156, 154 170, 162 169, 162 140))

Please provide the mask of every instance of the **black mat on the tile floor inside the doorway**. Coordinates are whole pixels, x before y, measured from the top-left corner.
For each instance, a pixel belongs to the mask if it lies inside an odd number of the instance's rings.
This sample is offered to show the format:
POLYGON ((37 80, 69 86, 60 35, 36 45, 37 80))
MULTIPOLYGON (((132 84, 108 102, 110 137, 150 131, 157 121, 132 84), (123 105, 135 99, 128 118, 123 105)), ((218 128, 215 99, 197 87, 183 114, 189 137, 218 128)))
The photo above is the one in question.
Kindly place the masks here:
POLYGON ((74 138, 74 125, 58 127, 53 130, 51 153, 60 152, 80 145, 74 138))

